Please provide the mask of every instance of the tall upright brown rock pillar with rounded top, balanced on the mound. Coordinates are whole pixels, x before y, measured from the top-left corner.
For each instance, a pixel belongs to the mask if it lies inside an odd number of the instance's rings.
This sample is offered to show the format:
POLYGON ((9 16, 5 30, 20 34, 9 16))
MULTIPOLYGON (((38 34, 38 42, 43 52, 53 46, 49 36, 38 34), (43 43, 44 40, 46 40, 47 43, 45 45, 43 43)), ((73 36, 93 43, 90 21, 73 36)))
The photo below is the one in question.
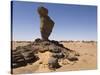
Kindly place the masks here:
POLYGON ((52 29, 54 27, 53 20, 48 16, 48 9, 45 7, 39 7, 38 13, 40 15, 40 32, 43 40, 48 40, 52 29))

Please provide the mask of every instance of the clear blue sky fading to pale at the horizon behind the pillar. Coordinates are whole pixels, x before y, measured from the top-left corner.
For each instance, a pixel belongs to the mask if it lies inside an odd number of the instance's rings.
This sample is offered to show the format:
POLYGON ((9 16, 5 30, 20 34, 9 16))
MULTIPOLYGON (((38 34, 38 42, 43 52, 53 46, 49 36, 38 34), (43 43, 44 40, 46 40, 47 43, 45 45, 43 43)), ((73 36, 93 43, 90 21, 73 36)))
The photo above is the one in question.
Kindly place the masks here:
POLYGON ((97 7, 71 4, 51 4, 13 1, 13 40, 40 38, 40 18, 37 8, 49 10, 55 22, 50 39, 97 40, 97 7))

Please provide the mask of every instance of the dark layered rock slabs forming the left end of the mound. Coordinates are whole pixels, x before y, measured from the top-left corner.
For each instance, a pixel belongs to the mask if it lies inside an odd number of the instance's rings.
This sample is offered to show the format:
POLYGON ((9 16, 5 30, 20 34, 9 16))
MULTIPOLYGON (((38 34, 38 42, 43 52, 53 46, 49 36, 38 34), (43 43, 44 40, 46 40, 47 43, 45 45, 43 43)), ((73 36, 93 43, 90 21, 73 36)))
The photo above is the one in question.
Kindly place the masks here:
POLYGON ((39 58, 34 54, 33 50, 28 46, 17 47, 16 50, 12 50, 12 68, 26 66, 27 63, 33 63, 39 58))

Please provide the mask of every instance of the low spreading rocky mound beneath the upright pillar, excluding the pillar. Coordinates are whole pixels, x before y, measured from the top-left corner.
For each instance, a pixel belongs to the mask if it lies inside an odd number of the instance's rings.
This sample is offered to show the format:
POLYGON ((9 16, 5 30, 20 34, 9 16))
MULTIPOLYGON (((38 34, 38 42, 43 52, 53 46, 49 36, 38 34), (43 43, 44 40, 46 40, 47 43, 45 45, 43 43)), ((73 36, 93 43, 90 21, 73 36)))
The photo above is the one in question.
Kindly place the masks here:
POLYGON ((36 39, 26 46, 18 46, 15 50, 12 50, 12 68, 18 68, 21 66, 26 66, 27 64, 34 63, 40 58, 38 53, 44 53, 49 51, 52 56, 48 61, 49 69, 56 69, 61 67, 58 63, 59 59, 68 59, 69 61, 78 61, 79 53, 76 51, 65 48, 58 41, 43 41, 41 39, 36 39))

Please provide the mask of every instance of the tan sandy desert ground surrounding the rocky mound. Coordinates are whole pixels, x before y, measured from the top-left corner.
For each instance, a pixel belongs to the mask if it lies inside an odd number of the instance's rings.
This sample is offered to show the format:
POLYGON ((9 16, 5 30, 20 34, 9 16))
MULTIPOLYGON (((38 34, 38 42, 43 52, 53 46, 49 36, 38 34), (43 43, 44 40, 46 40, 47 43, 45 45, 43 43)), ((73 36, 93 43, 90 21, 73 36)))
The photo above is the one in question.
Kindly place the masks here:
MULTIPOLYGON (((17 46, 25 46, 30 42, 13 42, 13 48, 17 46)), ((18 73, 38 73, 38 72, 58 72, 58 71, 77 71, 77 70, 93 70, 97 68, 97 42, 60 42, 65 47, 79 52, 79 60, 70 62, 67 59, 60 60, 60 68, 55 71, 49 70, 47 61, 50 56, 50 52, 39 53, 41 60, 36 61, 33 64, 28 64, 24 67, 13 69, 14 74, 18 73), (41 63, 42 62, 42 63, 41 63)))

